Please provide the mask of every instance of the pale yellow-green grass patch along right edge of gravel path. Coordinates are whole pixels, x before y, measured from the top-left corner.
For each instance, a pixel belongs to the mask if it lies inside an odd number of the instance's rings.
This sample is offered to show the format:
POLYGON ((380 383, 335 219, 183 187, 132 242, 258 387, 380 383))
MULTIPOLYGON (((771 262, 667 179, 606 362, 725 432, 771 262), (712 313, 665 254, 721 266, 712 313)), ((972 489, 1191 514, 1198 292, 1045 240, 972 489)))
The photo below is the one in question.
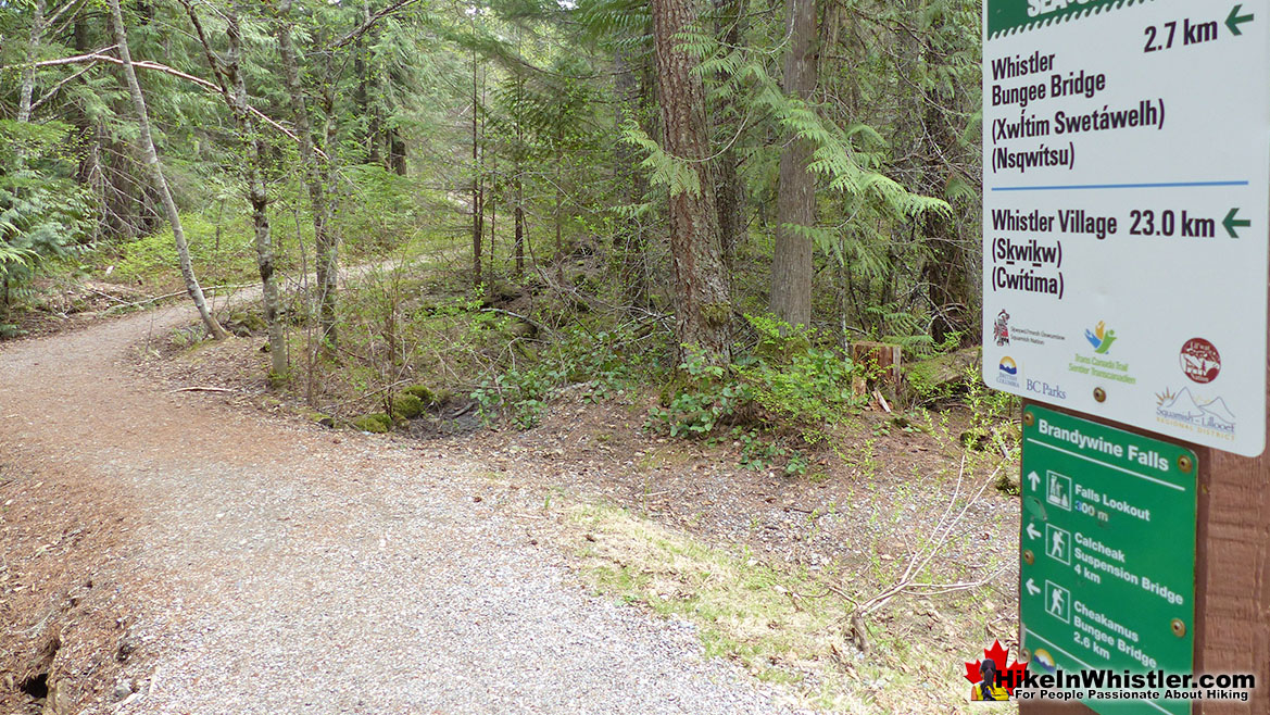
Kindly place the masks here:
MULTIPOLYGON (((853 606, 806 573, 770 565, 748 549, 712 547, 631 513, 566 507, 580 575, 597 593, 697 627, 707 657, 780 683, 795 705, 833 712, 950 711, 965 701, 955 655, 898 641, 867 626, 861 653, 847 630, 853 606), (933 681, 931 673, 944 673, 933 681)), ((846 574, 819 579, 852 583, 846 574)))

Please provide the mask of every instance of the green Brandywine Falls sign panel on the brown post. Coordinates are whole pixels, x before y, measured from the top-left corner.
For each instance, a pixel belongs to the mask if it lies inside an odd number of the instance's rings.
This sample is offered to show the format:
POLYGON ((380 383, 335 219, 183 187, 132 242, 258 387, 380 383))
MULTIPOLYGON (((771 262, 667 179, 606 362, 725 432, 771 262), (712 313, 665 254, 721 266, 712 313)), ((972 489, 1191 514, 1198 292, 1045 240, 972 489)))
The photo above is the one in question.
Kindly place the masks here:
MULTIPOLYGON (((1034 673, 1191 673, 1195 453, 1030 405, 1024 413, 1020 585, 1034 673)), ((1190 712, 1190 701, 1099 712, 1190 712)))

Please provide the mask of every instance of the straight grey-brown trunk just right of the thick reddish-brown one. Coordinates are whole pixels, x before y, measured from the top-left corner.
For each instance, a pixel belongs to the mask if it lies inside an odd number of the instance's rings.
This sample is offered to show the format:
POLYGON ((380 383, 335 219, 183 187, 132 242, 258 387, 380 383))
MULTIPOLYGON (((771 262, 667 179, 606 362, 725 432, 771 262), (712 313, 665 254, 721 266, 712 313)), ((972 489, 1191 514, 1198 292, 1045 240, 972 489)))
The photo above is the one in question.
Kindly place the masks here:
MULTIPOLYGON (((815 89, 815 0, 786 0, 786 94, 806 100, 815 89)), ((771 310, 790 325, 812 323, 812 240, 795 226, 815 225, 815 178, 808 170, 814 147, 794 140, 781 152, 776 196, 776 245, 772 250, 771 310)))

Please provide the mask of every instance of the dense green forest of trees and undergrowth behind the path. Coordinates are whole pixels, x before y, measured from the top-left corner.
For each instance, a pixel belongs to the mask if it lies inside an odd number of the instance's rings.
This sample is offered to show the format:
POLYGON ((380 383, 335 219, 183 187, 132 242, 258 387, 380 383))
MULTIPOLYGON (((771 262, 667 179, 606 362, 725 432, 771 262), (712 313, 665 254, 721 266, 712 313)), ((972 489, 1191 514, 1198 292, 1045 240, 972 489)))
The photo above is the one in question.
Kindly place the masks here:
POLYGON ((665 385, 671 433, 823 425, 978 340, 979 23, 0 0, 0 334, 179 293, 190 342, 267 334, 274 387, 375 431, 455 394, 532 427, 569 382, 665 385), (248 315, 212 300, 248 283, 248 315))

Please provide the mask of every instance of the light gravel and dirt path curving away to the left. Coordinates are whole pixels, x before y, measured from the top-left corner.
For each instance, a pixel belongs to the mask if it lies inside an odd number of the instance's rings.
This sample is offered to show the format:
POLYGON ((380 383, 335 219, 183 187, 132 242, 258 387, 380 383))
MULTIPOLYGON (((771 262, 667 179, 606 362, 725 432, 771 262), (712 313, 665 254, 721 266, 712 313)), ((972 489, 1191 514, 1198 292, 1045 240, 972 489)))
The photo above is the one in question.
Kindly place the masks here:
POLYGON ((493 489, 480 465, 137 377, 127 348, 188 320, 0 349, 0 461, 136 511, 118 554, 151 584, 131 638, 156 657, 91 711, 780 710, 705 662, 690 626, 575 588, 528 536, 527 490, 493 489))

